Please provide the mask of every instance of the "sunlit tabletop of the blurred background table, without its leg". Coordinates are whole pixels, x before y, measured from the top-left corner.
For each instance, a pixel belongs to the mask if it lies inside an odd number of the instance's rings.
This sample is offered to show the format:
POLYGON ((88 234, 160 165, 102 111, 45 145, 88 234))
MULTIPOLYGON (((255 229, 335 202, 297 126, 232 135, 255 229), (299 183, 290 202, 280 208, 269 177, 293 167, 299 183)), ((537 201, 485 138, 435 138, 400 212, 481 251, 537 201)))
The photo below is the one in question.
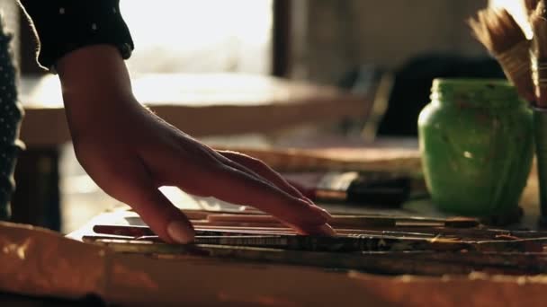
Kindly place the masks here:
MULTIPOLYGON (((265 75, 140 75, 141 103, 193 136, 267 133, 301 124, 366 118, 370 100, 334 87, 265 75)), ((22 140, 30 146, 70 140, 58 77, 23 78, 22 140)))

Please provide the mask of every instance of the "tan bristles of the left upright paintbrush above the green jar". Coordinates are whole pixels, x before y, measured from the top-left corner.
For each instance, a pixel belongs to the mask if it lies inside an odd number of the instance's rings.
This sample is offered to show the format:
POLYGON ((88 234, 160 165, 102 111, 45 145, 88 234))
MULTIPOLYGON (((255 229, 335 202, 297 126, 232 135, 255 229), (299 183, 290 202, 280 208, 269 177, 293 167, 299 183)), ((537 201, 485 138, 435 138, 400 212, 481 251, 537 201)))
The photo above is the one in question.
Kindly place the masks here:
POLYGON ((526 40, 525 32, 506 9, 480 10, 477 19, 469 20, 469 25, 474 36, 493 55, 503 53, 526 40))

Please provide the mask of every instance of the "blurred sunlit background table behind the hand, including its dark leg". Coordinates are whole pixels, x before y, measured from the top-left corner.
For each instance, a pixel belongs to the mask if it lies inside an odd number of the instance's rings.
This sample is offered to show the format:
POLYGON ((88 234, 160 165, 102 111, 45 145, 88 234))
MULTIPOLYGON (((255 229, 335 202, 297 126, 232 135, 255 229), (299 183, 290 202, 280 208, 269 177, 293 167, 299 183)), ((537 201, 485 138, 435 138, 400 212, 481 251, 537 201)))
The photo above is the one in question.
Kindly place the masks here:
MULTIPOLYGON (((300 125, 363 120, 366 97, 334 87, 263 75, 140 75, 133 78, 140 102, 192 136, 272 133, 300 125)), ((25 108, 13 219, 59 230, 58 145, 70 142, 58 77, 23 78, 25 108)))

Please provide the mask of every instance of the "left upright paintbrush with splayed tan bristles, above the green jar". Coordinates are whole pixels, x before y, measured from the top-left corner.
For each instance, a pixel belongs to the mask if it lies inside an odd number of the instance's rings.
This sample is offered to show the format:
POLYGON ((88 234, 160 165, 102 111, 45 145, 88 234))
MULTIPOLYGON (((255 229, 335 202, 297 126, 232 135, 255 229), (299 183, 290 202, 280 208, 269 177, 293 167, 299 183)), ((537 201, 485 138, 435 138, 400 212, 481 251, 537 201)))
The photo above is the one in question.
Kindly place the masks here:
POLYGON ((486 8, 468 21, 476 39, 496 57, 519 95, 534 101, 530 71, 530 40, 506 9, 486 8))

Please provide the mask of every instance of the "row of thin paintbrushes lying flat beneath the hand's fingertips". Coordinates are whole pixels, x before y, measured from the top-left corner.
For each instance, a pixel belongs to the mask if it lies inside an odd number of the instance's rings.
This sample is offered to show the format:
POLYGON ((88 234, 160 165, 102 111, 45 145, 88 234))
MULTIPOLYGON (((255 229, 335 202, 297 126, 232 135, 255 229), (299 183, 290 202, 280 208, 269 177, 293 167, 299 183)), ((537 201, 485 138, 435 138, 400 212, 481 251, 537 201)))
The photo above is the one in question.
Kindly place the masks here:
MULTIPOLYGON (((197 217, 197 216, 196 216, 197 217)), ((269 215, 209 214, 193 221, 198 246, 231 246, 327 252, 359 251, 534 251, 543 252, 547 234, 482 229, 471 218, 427 219, 378 215, 335 216, 336 237, 301 236, 269 215)), ((84 241, 115 243, 144 253, 170 253, 181 247, 168 246, 148 227, 94 225, 84 241), (127 245, 127 244, 136 245, 127 245), (153 243, 150 245, 149 243, 153 243)), ((193 245, 186 248, 192 249, 193 245)))

